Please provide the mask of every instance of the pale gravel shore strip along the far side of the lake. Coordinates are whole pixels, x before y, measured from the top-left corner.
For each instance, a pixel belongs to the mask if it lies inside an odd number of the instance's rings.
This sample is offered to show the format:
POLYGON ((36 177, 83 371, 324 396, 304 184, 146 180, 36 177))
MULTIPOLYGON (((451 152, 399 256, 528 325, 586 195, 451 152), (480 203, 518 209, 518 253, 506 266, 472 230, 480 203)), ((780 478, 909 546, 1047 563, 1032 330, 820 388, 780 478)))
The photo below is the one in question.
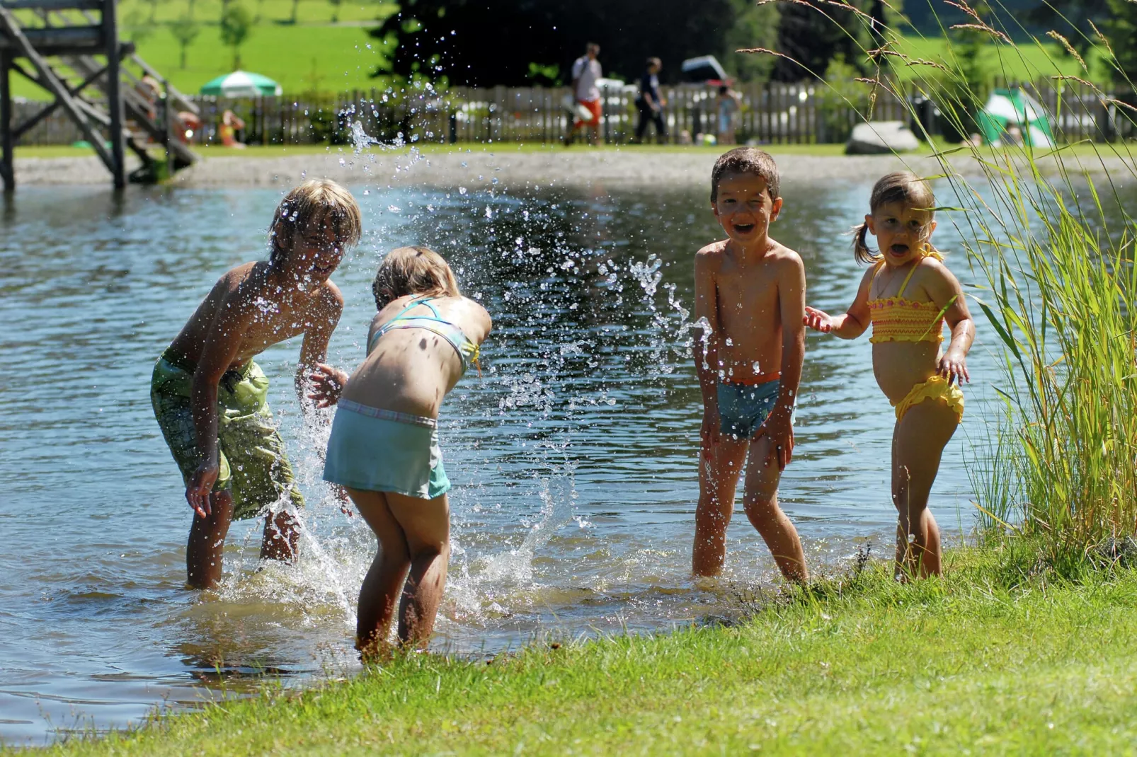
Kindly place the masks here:
MULTIPOLYGON (((769 148, 778 160, 782 181, 806 183, 856 181, 880 176, 889 170, 910 168, 921 175, 943 173, 939 161, 928 155, 910 156, 822 156, 780 153, 769 148)), ((725 148, 723 148, 723 151, 725 148)), ((207 157, 179 173, 169 182, 190 188, 268 188, 292 186, 305 178, 332 178, 346 184, 381 186, 422 185, 466 186, 470 190, 498 185, 511 190, 538 186, 698 185, 711 175, 719 152, 714 150, 654 151, 636 149, 517 150, 365 150, 329 148, 326 152, 280 156, 227 153, 207 157)), ((1002 157, 1003 153, 1001 153, 1002 157)), ((1005 158, 1003 158, 1005 159, 1005 158)), ((1137 176, 1137 164, 1117 156, 1089 157, 1071 153, 1063 158, 1072 173, 1109 174, 1114 178, 1137 176)), ((970 156, 949 158, 961 176, 979 176, 985 166, 970 156)), ((988 164, 990 166, 990 164, 988 164)), ((1046 173, 1057 163, 1054 157, 1039 160, 1046 173)), ((993 168, 987 167, 987 170, 993 168)), ((16 158, 18 185, 109 184, 109 176, 96 157, 16 158)))

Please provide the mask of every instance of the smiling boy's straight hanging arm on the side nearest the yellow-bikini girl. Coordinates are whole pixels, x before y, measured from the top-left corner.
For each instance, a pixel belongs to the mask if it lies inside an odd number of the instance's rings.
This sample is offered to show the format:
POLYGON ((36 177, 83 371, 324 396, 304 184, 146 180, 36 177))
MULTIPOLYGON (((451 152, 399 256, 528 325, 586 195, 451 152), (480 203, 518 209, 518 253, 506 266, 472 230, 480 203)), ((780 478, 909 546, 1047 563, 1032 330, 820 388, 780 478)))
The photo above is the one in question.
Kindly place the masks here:
POLYGON ((794 457, 794 404, 802 383, 805 360, 805 265, 796 255, 781 266, 778 276, 778 301, 782 331, 781 386, 778 401, 763 424, 771 451, 782 471, 794 457))

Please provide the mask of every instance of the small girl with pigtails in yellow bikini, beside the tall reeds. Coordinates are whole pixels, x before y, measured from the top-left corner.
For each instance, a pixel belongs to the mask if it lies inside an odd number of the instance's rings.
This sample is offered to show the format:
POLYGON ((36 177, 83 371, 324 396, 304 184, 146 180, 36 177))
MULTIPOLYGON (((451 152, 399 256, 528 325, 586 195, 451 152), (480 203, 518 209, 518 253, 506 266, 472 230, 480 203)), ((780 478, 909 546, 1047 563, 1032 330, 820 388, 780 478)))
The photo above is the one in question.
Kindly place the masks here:
POLYGON ((848 311, 831 316, 805 308, 805 324, 856 339, 872 324, 872 371, 896 408, 893 430, 893 504, 898 579, 939 574, 940 539, 928 510, 939 459, 963 418, 961 381, 976 336, 960 282, 929 240, 936 198, 910 172, 888 174, 872 189, 871 213, 856 230, 856 259, 871 264, 848 311), (879 252, 869 250, 872 233, 879 252), (941 350, 947 322, 952 342, 941 350))

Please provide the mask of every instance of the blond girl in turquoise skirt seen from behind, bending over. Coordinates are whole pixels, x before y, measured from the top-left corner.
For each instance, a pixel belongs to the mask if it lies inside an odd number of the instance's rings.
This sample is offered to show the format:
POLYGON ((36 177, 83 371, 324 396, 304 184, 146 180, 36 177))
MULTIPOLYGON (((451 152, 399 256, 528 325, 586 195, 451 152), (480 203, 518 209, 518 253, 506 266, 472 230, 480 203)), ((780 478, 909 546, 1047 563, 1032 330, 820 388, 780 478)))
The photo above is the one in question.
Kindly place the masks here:
POLYGON ((442 256, 424 247, 389 252, 372 291, 379 314, 363 365, 350 378, 326 365, 312 376, 317 405, 339 402, 324 481, 347 488, 379 539, 359 590, 356 647, 365 660, 385 652, 396 604, 400 643, 425 646, 434 629, 450 560, 438 414, 491 326, 442 256))

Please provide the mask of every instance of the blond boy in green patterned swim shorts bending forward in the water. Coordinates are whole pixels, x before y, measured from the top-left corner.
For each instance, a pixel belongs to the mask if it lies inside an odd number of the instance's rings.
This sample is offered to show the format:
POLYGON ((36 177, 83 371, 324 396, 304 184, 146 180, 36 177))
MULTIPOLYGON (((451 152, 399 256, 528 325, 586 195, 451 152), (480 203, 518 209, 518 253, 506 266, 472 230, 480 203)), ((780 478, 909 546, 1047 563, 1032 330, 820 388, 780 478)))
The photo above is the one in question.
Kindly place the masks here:
MULTIPOLYGON (((268 378, 252 358, 304 334, 302 392, 343 309, 329 276, 359 241, 359 206, 335 182, 289 192, 269 227, 268 260, 225 273, 155 365, 150 400, 194 513, 185 548, 194 588, 221 580, 233 518, 255 517, 285 496, 293 507, 304 504, 268 409, 268 378)), ((260 557, 290 560, 296 547, 294 517, 269 511, 260 557)))

